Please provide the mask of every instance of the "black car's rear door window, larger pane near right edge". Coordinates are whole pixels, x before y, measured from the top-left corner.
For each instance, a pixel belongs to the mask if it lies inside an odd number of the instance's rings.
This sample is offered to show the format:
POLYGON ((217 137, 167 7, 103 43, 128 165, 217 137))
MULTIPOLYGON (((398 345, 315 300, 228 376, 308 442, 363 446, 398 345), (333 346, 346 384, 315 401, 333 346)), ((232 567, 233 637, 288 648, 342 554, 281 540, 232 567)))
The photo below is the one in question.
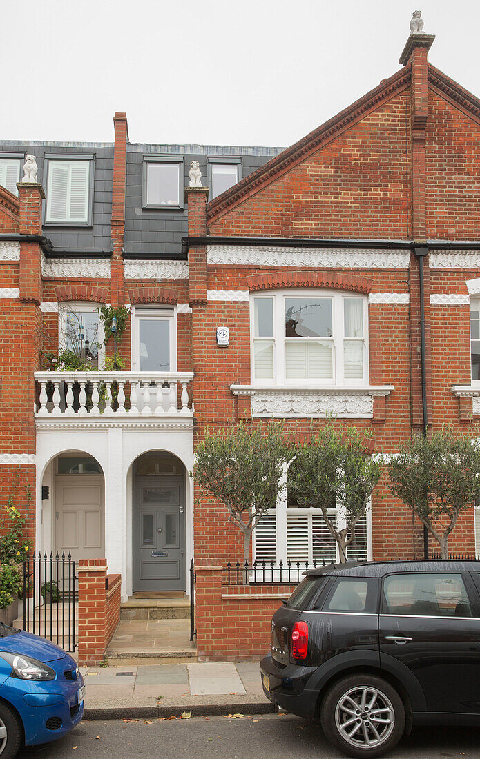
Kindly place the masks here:
POLYGON ((384 614, 471 617, 472 608, 462 575, 415 572, 384 580, 384 614))

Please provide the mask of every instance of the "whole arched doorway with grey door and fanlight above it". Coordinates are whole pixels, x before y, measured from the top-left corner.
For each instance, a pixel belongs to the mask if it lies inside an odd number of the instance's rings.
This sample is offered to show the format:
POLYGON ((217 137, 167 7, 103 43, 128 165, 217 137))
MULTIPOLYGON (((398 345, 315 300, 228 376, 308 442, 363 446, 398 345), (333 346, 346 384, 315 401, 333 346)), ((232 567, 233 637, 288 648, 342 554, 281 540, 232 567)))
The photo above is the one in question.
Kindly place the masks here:
POLYGON ((185 467, 172 453, 134 461, 133 589, 185 591, 185 467))

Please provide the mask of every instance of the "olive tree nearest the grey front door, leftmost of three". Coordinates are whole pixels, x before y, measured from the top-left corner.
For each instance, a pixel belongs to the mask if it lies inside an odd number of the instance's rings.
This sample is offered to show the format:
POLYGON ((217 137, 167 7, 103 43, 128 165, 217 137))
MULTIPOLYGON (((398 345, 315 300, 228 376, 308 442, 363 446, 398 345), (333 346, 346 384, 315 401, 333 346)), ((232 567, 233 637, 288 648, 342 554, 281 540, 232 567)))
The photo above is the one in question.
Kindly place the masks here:
POLYGON ((281 476, 289 459, 283 427, 269 424, 264 432, 246 424, 216 432, 207 428, 195 457, 195 482, 226 505, 229 521, 242 531, 248 562, 251 534, 268 509, 275 507, 283 487, 281 476))

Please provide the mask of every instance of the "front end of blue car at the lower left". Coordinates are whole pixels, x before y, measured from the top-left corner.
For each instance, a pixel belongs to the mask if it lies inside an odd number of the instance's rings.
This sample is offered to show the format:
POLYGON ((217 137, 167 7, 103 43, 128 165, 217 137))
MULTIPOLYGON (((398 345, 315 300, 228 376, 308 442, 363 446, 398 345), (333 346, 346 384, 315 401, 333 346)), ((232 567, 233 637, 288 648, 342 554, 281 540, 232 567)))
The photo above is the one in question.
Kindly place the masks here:
POLYGON ((0 622, 0 759, 70 732, 83 716, 84 690, 62 648, 0 622))

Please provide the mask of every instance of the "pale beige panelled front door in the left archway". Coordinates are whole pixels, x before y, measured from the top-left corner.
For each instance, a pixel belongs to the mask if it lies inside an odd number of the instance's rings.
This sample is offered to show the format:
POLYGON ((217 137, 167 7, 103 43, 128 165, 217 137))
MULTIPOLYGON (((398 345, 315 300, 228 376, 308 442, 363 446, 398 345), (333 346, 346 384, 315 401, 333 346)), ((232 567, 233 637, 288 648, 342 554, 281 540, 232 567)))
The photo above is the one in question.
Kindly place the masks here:
POLYGON ((105 557, 103 476, 57 475, 55 551, 72 559, 105 557))

